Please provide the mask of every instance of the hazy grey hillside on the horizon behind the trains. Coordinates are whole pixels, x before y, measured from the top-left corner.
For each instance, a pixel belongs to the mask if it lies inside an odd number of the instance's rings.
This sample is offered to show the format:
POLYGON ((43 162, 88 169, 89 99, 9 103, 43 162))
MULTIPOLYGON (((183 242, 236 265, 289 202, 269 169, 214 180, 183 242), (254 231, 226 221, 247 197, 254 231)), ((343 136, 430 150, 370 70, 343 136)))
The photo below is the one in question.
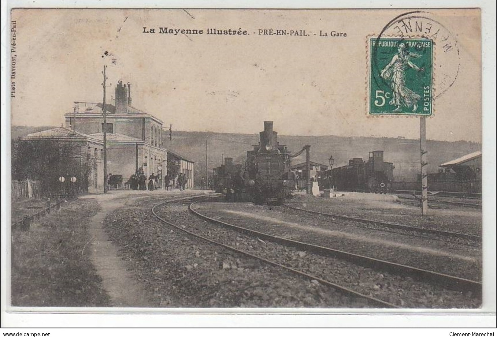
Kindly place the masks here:
MULTIPOLYGON (((51 129, 53 127, 13 126, 11 139, 51 129)), ((205 144, 209 174, 212 169, 221 165, 222 156, 233 157, 235 163, 241 163, 258 144, 259 135, 230 134, 213 132, 174 131, 172 141, 165 132, 164 145, 183 157, 195 162, 195 177, 205 176, 205 144), (166 137, 167 136, 167 137, 166 137)), ((368 153, 375 150, 385 151, 384 158, 395 165, 394 176, 415 179, 419 173, 419 140, 404 138, 372 138, 372 137, 337 137, 337 136, 280 136, 280 144, 285 144, 293 153, 298 152, 306 144, 311 145, 311 160, 328 165, 330 155, 335 159, 333 167, 346 165, 350 158, 367 159, 368 153)), ((480 143, 427 141, 428 172, 436 172, 438 165, 466 154, 481 150, 480 143)), ((305 153, 294 158, 292 164, 305 162, 305 153)), ((195 179, 197 180, 197 179, 195 179)))

